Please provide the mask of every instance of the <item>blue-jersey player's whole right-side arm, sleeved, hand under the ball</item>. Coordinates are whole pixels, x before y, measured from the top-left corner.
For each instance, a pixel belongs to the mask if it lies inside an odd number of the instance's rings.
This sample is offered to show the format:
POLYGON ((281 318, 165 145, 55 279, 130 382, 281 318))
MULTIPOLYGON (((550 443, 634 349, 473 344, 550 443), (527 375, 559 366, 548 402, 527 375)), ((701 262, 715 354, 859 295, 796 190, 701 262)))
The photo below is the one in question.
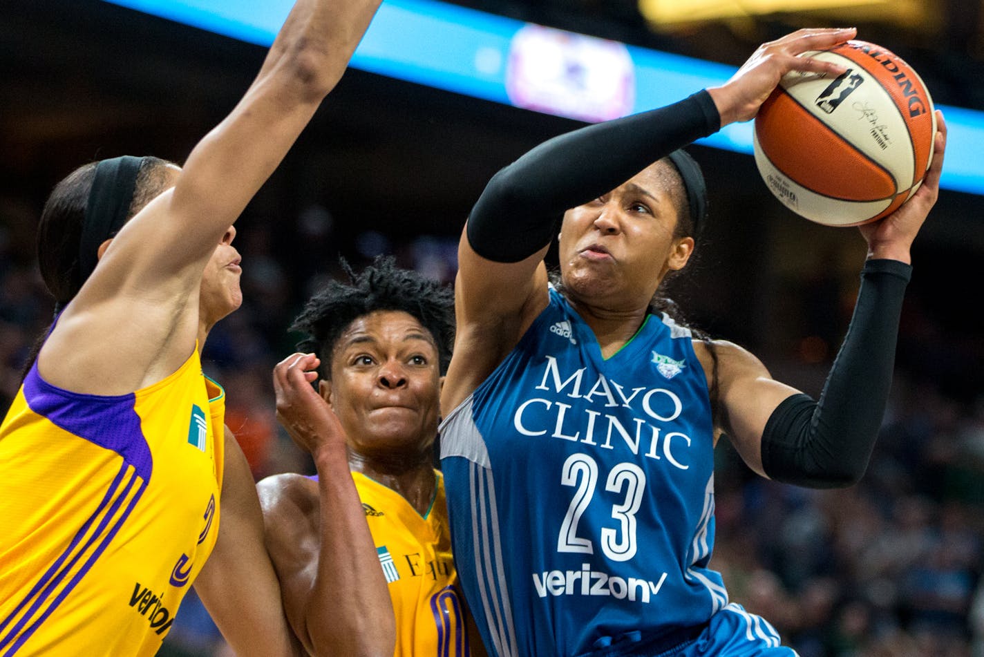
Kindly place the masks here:
POLYGON ((864 475, 892 387, 909 247, 936 202, 946 124, 922 188, 899 209, 861 227, 869 243, 847 334, 819 401, 779 384, 757 358, 731 345, 720 360, 723 427, 745 461, 772 479, 816 488, 864 475))

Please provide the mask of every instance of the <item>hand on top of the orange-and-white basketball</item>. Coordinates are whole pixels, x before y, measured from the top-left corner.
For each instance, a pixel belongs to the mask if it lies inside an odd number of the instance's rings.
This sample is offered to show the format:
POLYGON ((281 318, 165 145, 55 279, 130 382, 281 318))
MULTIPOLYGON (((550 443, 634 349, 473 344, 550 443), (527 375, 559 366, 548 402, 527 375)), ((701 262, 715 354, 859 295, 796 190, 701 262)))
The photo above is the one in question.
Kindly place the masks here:
POLYGON ((790 71, 838 76, 844 67, 812 57, 810 50, 827 50, 854 37, 857 30, 804 29, 760 45, 740 69, 721 87, 707 90, 721 115, 721 126, 755 117, 782 76, 790 71))

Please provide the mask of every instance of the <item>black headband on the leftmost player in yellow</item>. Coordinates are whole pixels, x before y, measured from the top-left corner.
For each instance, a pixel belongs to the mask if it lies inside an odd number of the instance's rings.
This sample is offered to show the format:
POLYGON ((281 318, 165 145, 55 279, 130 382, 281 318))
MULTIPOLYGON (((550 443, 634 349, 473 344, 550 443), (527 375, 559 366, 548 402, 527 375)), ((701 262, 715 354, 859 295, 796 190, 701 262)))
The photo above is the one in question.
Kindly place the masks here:
POLYGON ((137 187, 137 174, 144 163, 143 157, 122 155, 103 159, 95 165, 95 178, 86 203, 86 218, 82 223, 79 240, 79 280, 85 282, 99 262, 96 252, 126 223, 126 215, 133 203, 137 187))

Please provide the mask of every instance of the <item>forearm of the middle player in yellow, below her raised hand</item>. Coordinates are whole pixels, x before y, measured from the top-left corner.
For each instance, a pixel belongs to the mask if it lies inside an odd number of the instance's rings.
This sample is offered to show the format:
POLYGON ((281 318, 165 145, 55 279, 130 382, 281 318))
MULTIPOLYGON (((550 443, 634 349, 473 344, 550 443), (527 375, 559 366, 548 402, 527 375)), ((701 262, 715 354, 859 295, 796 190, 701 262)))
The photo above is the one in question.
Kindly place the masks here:
POLYGON ((307 629, 317 655, 392 657, 396 620, 390 591, 347 460, 316 457, 321 547, 307 605, 307 629))

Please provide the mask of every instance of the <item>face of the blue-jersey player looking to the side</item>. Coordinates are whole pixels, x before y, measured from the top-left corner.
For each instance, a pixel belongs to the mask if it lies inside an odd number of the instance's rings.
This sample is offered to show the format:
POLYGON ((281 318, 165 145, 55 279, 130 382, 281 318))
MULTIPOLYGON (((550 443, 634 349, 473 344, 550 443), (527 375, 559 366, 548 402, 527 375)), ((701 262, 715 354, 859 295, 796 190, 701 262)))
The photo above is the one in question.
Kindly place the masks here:
MULTIPOLYGON (((560 267, 565 288, 589 305, 645 305, 671 269, 687 264, 690 237, 675 238, 672 165, 660 161, 564 214, 560 267)), ((677 183, 678 184, 678 183, 677 183)))

